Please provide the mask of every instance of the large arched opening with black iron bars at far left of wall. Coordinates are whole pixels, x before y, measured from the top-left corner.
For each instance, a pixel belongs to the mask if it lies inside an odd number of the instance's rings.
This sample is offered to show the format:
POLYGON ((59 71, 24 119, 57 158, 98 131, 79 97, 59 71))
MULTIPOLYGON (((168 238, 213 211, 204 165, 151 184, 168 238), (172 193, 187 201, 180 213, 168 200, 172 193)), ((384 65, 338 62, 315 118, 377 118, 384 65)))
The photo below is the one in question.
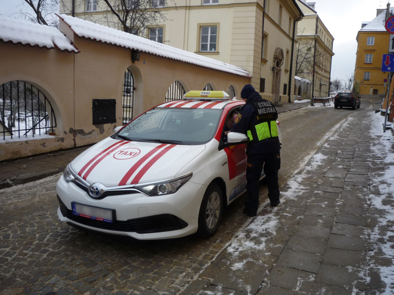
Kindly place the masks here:
POLYGON ((52 105, 41 90, 23 81, 0 85, 0 134, 25 136, 54 134, 52 105))

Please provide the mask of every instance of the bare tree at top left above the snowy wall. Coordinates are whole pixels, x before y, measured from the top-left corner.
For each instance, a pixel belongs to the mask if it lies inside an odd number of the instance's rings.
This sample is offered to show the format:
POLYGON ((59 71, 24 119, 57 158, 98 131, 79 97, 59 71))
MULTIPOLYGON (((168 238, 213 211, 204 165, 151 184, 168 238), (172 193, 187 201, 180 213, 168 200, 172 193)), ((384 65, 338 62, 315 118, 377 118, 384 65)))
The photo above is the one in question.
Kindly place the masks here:
POLYGON ((36 24, 59 28, 59 19, 54 12, 59 12, 59 0, 23 0, 32 12, 20 11, 19 14, 28 21, 36 24))

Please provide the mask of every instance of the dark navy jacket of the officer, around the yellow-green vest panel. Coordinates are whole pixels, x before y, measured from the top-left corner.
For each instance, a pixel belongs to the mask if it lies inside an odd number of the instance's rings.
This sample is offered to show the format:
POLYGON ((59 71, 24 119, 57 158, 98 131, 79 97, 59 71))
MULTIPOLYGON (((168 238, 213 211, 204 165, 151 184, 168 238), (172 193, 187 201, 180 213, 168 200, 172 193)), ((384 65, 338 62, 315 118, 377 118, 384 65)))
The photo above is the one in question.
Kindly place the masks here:
MULTIPOLYGON (((270 118, 266 119, 266 121, 276 121, 276 119, 278 118, 278 113, 275 109, 274 104, 268 100, 263 99, 259 92, 255 91, 248 97, 248 99, 246 100, 246 104, 240 108, 238 117, 236 118, 234 125, 232 125, 231 132, 238 132, 248 135, 248 130, 251 130, 252 127, 264 121, 264 119, 262 120, 262 117, 260 117, 260 119, 258 118, 259 114, 257 113, 255 107, 252 105, 255 102, 264 102, 264 112, 267 111, 267 113, 270 113, 270 118)), ((258 154, 271 152, 279 149, 279 137, 270 137, 261 141, 253 140, 248 145, 246 151, 248 154, 258 154)))

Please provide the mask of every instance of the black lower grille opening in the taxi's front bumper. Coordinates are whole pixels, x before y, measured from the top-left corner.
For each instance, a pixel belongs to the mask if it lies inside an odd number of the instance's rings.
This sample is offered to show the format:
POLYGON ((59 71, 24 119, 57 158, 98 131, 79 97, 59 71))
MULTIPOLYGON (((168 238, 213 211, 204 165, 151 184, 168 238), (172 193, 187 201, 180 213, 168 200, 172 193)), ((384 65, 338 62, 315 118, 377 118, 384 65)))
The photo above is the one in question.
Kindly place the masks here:
POLYGON ((172 214, 160 214, 148 217, 134 218, 126 221, 114 220, 106 223, 72 214, 66 205, 59 198, 60 210, 63 216, 80 224, 87 226, 118 232, 134 232, 137 234, 152 234, 181 230, 188 226, 187 222, 172 214))

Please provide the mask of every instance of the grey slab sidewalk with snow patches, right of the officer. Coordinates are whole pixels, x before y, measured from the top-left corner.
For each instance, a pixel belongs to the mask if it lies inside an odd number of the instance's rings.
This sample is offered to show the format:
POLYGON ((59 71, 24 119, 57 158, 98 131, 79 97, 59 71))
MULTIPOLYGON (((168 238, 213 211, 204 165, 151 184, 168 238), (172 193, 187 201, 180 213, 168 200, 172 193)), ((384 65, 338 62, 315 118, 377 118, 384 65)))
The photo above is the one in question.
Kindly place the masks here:
POLYGON ((282 204, 263 204, 181 295, 394 294, 394 198, 376 177, 394 163, 373 152, 382 138, 370 134, 372 114, 348 118, 281 188, 282 204))

